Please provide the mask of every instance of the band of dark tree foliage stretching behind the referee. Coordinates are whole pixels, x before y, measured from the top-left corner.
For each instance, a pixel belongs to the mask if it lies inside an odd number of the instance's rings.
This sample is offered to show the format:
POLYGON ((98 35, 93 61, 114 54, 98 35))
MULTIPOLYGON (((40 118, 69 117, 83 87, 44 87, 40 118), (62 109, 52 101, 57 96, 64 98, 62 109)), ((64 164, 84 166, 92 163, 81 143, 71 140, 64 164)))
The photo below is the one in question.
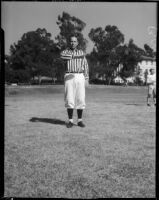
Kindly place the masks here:
MULTIPOLYGON (((45 28, 24 33, 21 39, 10 46, 10 55, 6 55, 5 80, 9 82, 30 82, 35 76, 56 77, 63 81, 64 63, 60 59, 60 51, 68 46, 71 35, 76 35, 79 47, 86 50, 87 40, 82 31, 86 23, 77 17, 63 12, 58 16, 57 25, 59 34, 55 37, 56 43, 51 39, 51 33, 45 28)), ((141 57, 155 58, 156 53, 145 44, 144 49, 139 48, 130 39, 124 44, 124 34, 117 26, 107 25, 92 28, 88 34, 94 43, 92 52, 87 54, 90 79, 106 80, 110 84, 119 75, 123 80, 134 76, 137 63, 141 57), (118 70, 119 64, 123 68, 118 70)))

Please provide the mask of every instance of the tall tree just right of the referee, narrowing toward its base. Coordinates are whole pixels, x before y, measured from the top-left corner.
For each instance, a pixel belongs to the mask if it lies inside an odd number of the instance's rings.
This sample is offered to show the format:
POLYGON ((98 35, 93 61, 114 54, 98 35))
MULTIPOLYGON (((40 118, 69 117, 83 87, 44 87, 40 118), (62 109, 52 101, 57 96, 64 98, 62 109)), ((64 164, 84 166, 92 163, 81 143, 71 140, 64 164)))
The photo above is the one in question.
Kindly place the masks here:
POLYGON ((108 79, 108 84, 114 77, 114 71, 119 65, 119 57, 116 53, 117 48, 124 43, 124 35, 116 26, 108 25, 103 30, 101 27, 91 29, 88 34, 94 43, 100 71, 108 79))

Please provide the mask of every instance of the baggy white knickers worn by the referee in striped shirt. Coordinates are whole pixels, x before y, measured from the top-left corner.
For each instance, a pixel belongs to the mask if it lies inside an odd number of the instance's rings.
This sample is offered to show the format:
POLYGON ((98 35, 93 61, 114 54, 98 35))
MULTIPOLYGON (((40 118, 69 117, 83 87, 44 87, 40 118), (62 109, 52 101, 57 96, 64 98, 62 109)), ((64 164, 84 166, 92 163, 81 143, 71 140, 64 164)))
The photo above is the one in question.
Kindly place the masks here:
POLYGON ((64 76, 65 81, 65 107, 72 109, 85 108, 85 77, 82 73, 64 76))

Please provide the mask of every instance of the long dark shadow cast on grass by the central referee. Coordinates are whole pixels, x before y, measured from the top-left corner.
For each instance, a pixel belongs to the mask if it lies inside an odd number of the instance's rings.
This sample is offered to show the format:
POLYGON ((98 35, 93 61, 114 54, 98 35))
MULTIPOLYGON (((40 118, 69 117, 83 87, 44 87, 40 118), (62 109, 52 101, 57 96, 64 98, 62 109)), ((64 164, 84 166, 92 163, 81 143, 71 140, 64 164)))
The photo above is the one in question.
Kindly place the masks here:
POLYGON ((60 119, 32 117, 29 121, 30 122, 44 122, 44 123, 50 123, 50 124, 65 125, 65 121, 62 121, 60 119))

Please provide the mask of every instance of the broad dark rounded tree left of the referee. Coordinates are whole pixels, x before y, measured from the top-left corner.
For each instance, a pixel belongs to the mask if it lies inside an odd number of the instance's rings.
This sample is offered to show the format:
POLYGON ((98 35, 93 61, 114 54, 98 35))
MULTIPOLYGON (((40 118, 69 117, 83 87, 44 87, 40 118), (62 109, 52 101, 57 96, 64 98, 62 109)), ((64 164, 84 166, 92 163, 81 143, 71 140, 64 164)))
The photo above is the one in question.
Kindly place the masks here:
POLYGON ((21 73, 20 70, 25 71, 24 74, 29 80, 38 76, 40 83, 42 75, 50 75, 53 60, 59 53, 56 44, 51 40, 51 34, 44 28, 38 28, 36 31, 24 33, 17 44, 11 45, 10 54, 12 70, 17 73, 21 73))

